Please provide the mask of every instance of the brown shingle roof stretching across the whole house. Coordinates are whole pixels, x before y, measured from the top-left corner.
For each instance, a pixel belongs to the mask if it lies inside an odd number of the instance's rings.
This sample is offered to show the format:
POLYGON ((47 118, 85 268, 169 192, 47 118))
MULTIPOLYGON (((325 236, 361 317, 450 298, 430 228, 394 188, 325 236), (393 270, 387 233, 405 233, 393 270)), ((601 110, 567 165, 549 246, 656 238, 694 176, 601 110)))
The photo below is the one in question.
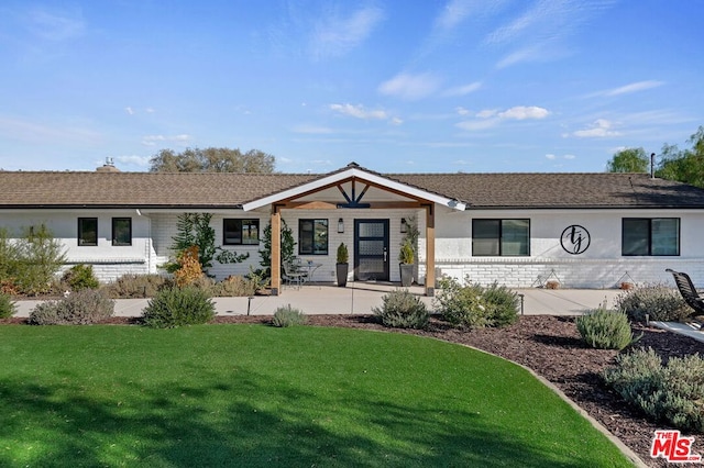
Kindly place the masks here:
MULTIPOLYGON (((324 176, 0 171, 0 208, 235 208, 324 176)), ((703 189, 642 174, 381 176, 459 200, 468 209, 704 208, 703 189)))

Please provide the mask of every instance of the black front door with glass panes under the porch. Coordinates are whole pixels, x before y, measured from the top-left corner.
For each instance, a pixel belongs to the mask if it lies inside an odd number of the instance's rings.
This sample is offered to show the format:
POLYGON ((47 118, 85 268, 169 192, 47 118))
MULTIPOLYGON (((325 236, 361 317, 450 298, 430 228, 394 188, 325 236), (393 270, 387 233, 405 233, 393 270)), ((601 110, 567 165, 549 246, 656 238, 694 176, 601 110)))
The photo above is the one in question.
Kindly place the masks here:
POLYGON ((388 281, 388 220, 354 220, 354 277, 388 281))

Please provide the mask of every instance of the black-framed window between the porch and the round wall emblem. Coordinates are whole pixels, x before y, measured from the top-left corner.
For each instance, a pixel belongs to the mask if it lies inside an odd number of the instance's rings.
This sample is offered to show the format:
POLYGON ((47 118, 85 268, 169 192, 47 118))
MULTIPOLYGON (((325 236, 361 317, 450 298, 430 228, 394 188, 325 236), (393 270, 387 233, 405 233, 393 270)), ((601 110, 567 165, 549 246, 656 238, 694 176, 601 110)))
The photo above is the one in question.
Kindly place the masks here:
POLYGON ((530 220, 472 220, 472 255, 530 255, 530 220))

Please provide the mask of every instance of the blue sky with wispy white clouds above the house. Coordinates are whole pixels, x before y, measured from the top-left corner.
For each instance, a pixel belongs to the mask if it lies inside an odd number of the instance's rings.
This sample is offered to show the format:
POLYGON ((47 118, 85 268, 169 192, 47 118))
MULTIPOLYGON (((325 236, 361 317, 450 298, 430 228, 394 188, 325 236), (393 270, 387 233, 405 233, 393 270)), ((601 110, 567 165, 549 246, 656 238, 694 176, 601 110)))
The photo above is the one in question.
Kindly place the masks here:
POLYGON ((0 168, 603 171, 704 125, 703 0, 4 0, 0 168))

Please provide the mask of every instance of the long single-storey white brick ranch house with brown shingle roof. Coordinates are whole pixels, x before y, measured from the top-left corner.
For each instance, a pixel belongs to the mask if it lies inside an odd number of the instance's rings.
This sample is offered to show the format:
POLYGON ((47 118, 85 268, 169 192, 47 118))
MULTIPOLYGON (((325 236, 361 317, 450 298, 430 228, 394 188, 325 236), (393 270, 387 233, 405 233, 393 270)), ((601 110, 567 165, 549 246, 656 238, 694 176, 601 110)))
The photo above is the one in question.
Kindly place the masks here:
POLYGON ((349 280, 399 281, 398 254, 419 232, 416 280, 439 276, 513 288, 615 288, 671 282, 667 268, 704 283, 704 190, 647 174, 378 174, 352 163, 328 174, 0 171, 0 227, 45 224, 67 265, 102 281, 155 274, 173 256, 182 213, 211 213, 217 245, 257 268, 272 227, 272 293, 282 292, 282 225, 296 256, 336 280, 349 246, 349 280))

